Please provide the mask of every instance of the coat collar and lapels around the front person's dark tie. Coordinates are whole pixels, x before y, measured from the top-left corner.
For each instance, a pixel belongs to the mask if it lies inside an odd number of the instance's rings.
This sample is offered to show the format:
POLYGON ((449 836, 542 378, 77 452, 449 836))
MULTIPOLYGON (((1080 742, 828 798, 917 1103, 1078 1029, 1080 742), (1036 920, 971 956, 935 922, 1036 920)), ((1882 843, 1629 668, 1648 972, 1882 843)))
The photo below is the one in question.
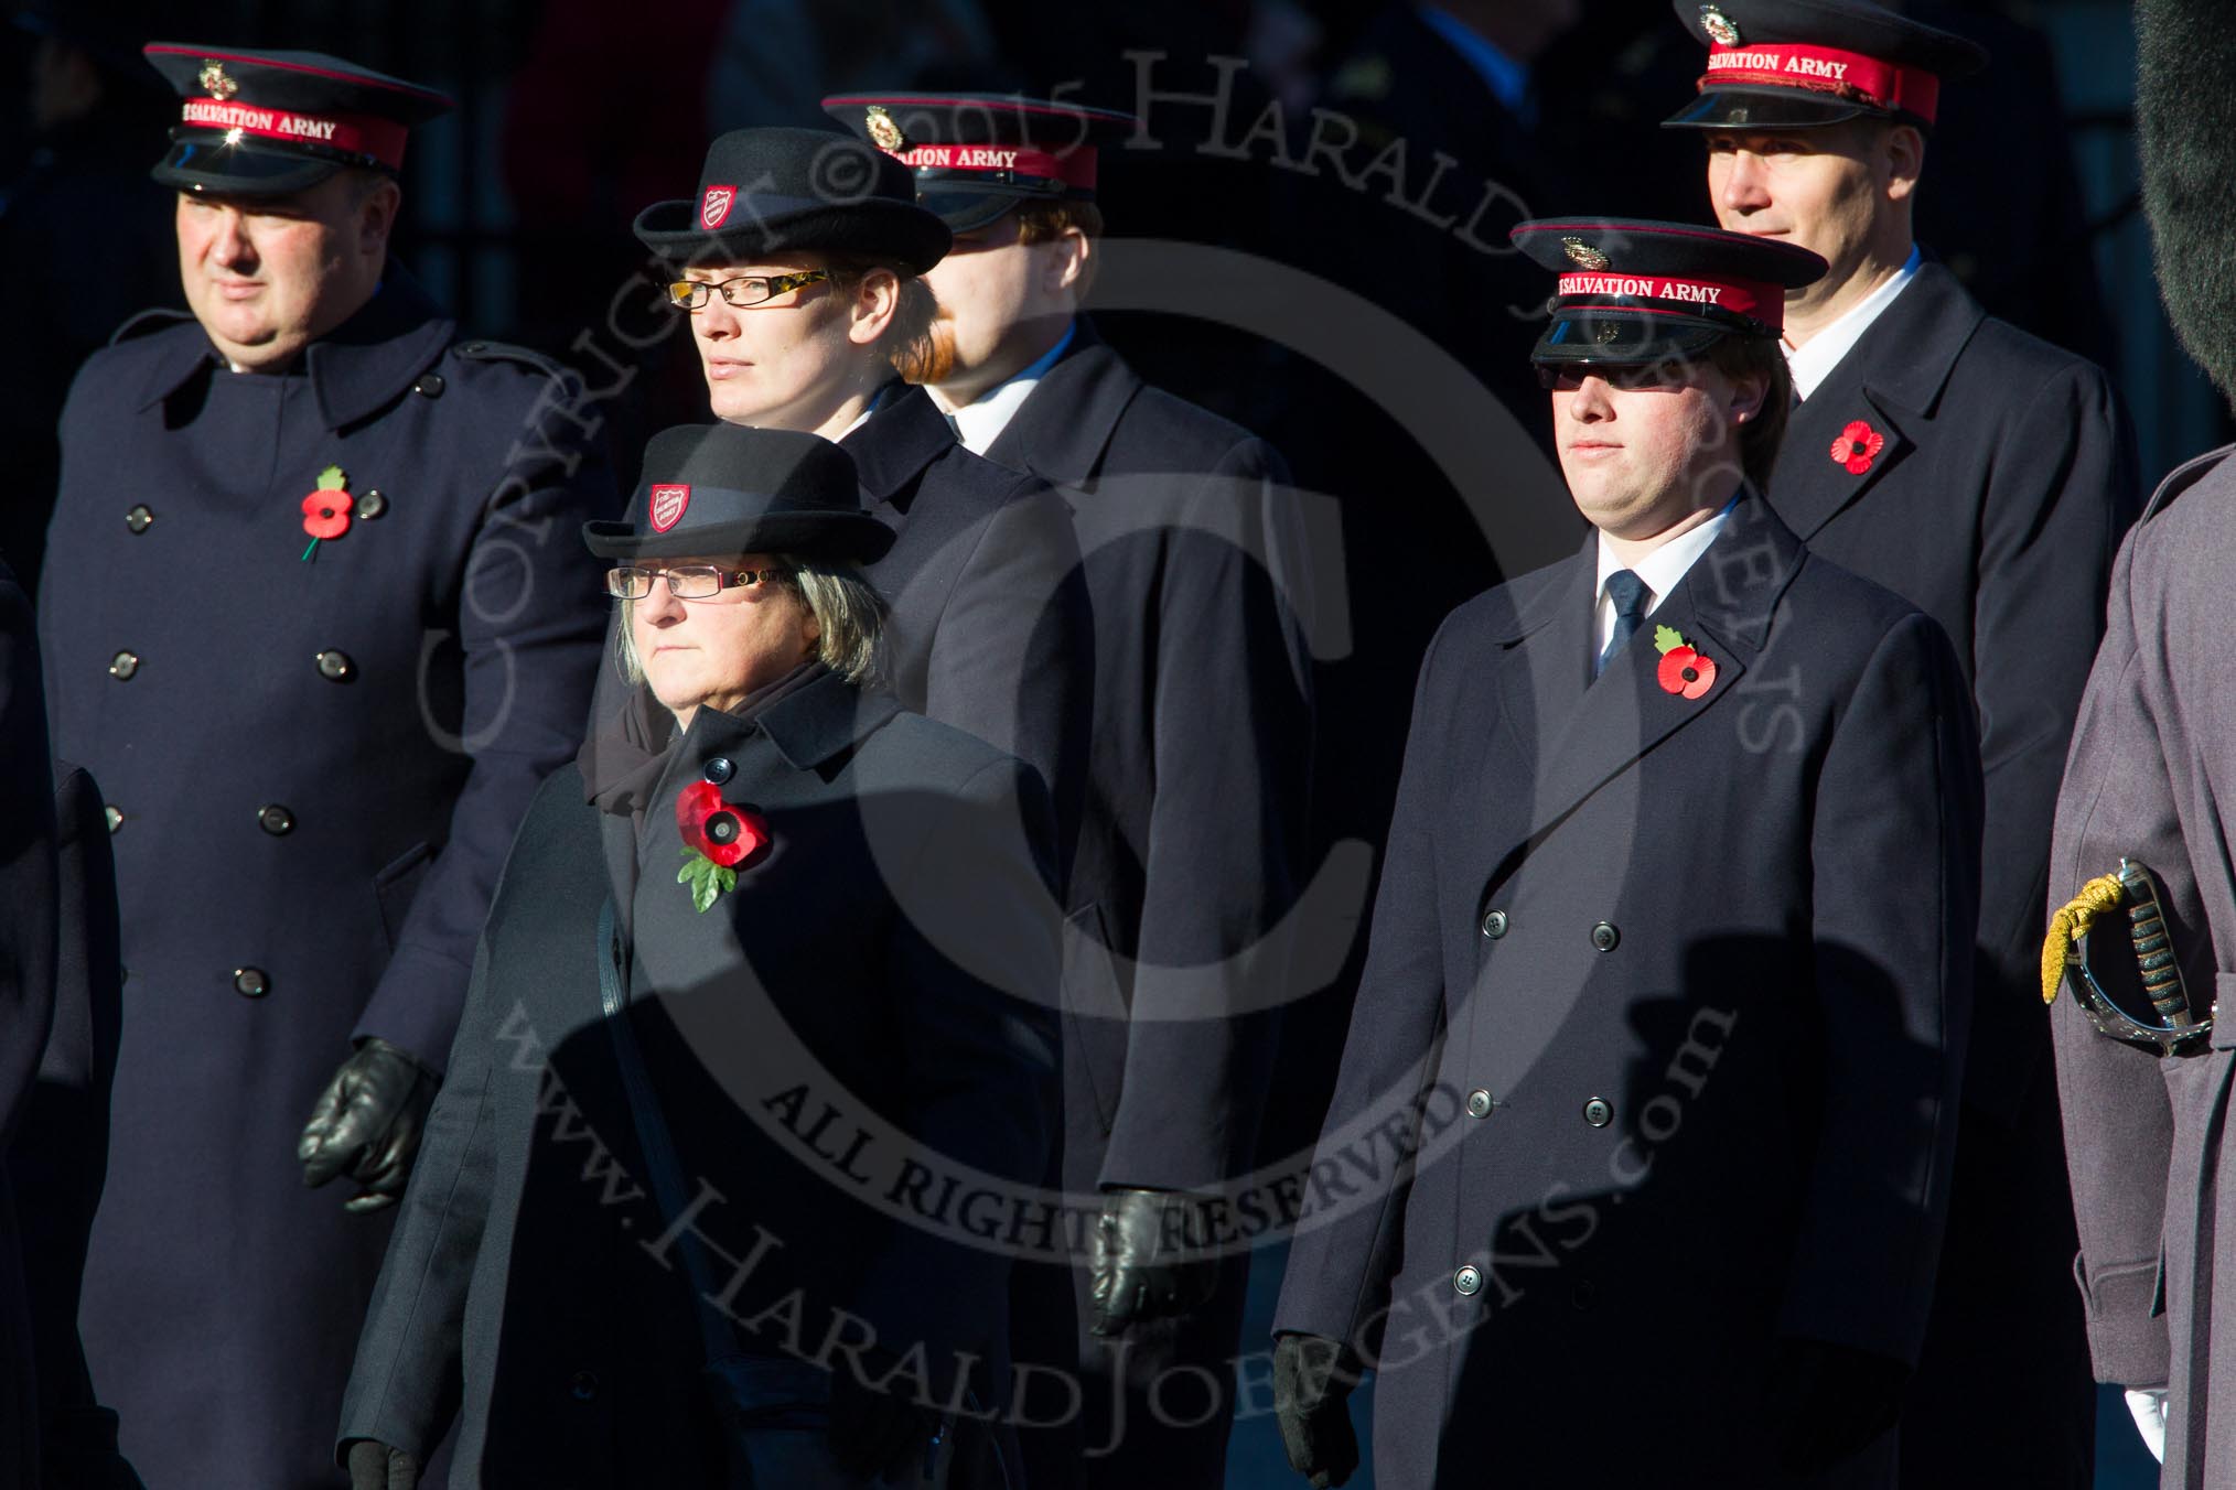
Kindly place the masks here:
MULTIPOLYGON (((1632 762, 1713 710, 1733 693, 1769 646, 1771 617, 1793 583, 1807 550, 1753 491, 1724 523, 1652 619, 1592 681, 1592 603, 1599 590, 1597 547, 1550 570, 1498 625, 1509 657, 1500 666, 1500 719, 1520 771, 1478 793, 1494 820, 1478 833, 1487 880, 1503 878, 1516 853, 1550 833, 1585 797, 1632 762), (1655 630, 1677 630, 1686 646, 1715 661, 1715 684, 1697 699, 1661 686, 1655 630)), ((1536 576, 1532 576, 1536 579, 1536 576)))

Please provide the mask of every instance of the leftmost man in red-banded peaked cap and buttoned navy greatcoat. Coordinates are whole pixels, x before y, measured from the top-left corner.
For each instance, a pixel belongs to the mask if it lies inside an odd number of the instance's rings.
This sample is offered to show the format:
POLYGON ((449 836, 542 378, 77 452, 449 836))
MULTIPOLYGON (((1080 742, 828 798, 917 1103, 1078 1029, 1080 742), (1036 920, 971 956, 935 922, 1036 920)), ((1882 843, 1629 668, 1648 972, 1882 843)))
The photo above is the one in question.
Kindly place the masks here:
POLYGON ((615 494, 570 378, 458 344, 387 252, 447 98, 148 60, 192 313, 72 389, 40 625, 130 967, 85 1354, 150 1483, 311 1486, 499 865, 581 739, 572 532, 615 494))

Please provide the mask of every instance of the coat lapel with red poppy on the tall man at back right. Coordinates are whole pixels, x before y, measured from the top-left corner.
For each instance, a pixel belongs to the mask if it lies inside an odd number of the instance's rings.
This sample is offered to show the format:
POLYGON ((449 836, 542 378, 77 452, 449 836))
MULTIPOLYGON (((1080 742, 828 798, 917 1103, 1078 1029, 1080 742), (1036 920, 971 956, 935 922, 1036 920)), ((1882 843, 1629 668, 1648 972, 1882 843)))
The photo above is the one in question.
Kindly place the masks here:
POLYGON ((1957 275, 1925 261, 1910 288, 1802 400, 1771 480, 1771 500, 1800 538, 1813 536, 1910 456, 1957 357, 1986 319, 1957 275), (1869 427, 1865 438, 1878 436, 1883 445, 1869 467, 1849 471, 1831 451, 1858 422, 1869 427))

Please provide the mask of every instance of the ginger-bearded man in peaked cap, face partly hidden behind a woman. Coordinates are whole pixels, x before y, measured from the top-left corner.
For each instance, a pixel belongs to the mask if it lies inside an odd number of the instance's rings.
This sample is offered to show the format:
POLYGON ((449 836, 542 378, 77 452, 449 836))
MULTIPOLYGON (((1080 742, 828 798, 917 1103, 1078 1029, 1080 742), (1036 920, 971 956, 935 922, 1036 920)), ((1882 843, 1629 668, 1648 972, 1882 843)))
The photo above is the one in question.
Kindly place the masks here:
POLYGON ((1069 496, 1093 605, 1064 1188, 1100 1195, 1102 1222, 1073 1271, 1082 1443, 1042 1463, 1029 1439, 1033 1481, 1219 1486, 1232 1396, 1183 1407, 1174 1383, 1225 1378, 1248 1247, 1183 1269, 1129 1238, 1205 1231, 1198 1202, 1257 1157, 1286 958, 1250 954, 1297 894, 1313 735, 1283 594, 1299 579, 1288 471, 1250 431, 1145 386, 1080 315, 1096 156, 1131 116, 993 94, 825 107, 908 165, 955 230, 926 275, 939 319, 917 375, 968 449, 1069 496))

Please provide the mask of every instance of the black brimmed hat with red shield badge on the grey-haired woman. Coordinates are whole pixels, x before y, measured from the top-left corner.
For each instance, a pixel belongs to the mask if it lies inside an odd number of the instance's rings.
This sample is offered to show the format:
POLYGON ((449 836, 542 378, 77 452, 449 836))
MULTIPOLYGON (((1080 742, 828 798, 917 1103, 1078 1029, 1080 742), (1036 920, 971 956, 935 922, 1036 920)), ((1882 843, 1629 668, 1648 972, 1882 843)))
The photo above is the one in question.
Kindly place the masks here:
POLYGON ((854 458, 823 436, 745 424, 678 424, 644 447, 619 523, 584 523, 599 558, 814 554, 872 561, 892 529, 861 507, 854 458))

